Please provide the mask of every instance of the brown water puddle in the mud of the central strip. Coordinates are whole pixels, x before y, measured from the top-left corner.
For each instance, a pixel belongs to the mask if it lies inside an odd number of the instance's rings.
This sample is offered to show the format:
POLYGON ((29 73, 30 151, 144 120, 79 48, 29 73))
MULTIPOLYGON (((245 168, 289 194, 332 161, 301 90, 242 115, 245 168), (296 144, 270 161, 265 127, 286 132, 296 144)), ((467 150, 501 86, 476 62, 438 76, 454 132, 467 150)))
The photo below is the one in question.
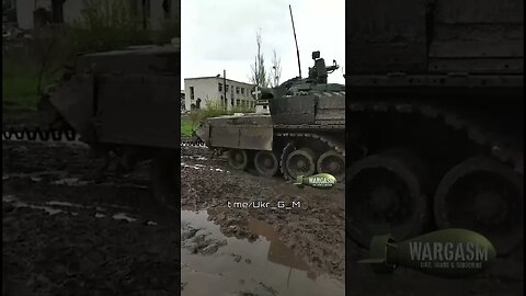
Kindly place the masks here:
POLYGON ((344 295, 344 283, 317 275, 278 240, 271 225, 249 220, 255 241, 229 238, 206 210, 181 210, 182 295, 344 295))

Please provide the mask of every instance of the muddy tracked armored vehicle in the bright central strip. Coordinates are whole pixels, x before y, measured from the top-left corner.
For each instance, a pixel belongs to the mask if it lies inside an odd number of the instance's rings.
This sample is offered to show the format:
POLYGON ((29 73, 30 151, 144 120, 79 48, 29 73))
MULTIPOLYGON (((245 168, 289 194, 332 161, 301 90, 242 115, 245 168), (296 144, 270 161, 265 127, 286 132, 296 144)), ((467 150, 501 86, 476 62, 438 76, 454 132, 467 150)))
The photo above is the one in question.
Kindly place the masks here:
POLYGON ((327 67, 319 52, 307 78, 294 78, 275 89, 263 89, 270 114, 213 117, 196 130, 208 148, 226 150, 228 163, 238 170, 253 164, 259 174, 281 171, 298 175, 345 175, 345 87, 328 83, 327 67))

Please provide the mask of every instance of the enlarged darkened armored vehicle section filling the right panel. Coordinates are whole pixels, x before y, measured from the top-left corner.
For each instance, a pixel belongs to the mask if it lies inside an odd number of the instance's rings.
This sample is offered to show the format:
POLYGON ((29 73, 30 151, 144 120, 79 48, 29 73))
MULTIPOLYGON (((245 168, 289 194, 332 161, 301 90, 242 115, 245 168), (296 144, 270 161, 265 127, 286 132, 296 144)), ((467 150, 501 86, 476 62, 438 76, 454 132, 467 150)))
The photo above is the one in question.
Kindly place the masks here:
POLYGON ((524 1, 347 5, 351 237, 458 227, 522 248, 524 1))

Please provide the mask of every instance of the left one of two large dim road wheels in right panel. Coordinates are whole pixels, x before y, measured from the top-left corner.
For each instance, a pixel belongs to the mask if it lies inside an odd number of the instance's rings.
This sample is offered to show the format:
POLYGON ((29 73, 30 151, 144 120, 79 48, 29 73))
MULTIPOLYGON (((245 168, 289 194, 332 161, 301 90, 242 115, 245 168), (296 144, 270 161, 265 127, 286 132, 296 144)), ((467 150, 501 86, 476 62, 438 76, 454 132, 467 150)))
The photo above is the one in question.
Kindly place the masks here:
POLYGON ((351 236, 368 247, 373 236, 401 241, 422 234, 431 220, 426 169, 414 156, 384 152, 354 162, 345 175, 351 236))

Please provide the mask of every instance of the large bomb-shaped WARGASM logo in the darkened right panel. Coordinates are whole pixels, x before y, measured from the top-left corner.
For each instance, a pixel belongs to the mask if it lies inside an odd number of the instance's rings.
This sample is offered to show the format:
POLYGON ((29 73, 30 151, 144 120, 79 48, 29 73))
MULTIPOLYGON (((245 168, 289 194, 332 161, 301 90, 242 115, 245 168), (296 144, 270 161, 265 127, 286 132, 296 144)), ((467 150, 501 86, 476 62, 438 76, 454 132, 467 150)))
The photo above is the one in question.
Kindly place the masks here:
POLYGON ((443 229, 396 243, 391 236, 373 238, 369 259, 376 272, 405 266, 443 277, 464 277, 489 267, 496 257, 493 244, 468 229, 443 229))

